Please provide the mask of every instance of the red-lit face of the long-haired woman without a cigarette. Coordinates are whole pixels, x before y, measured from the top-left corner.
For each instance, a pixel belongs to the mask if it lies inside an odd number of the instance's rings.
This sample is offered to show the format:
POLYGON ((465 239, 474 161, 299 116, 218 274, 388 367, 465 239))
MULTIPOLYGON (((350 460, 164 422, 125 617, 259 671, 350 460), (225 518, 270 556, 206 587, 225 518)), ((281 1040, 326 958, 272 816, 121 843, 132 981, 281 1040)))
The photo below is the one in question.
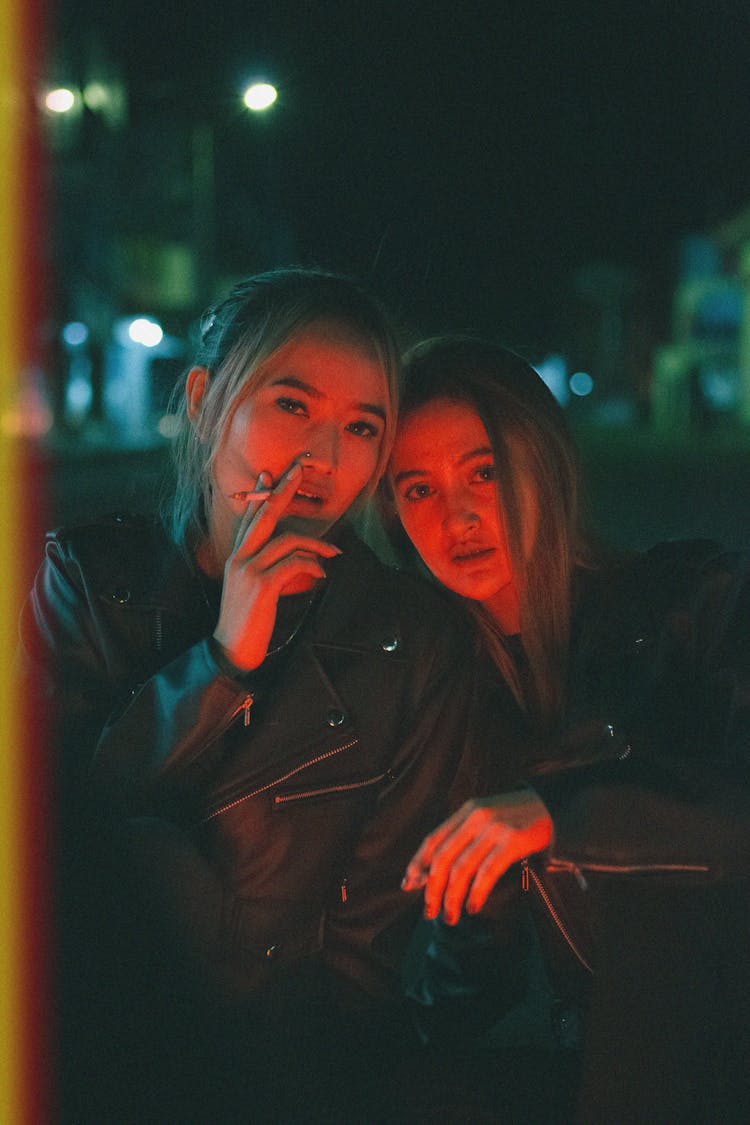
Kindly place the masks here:
POLYGON ((469 404, 440 398, 408 414, 389 477, 404 529, 435 578, 490 610, 513 595, 493 451, 469 404))

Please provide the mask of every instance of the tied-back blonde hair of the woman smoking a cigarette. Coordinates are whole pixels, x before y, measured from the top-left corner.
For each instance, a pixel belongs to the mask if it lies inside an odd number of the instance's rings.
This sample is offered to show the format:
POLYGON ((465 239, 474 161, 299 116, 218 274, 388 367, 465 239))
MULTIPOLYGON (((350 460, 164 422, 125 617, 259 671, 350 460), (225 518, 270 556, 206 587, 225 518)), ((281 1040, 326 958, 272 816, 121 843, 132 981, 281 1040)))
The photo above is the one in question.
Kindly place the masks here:
POLYGON ((186 551, 206 534, 211 503, 211 466, 240 402, 264 381, 271 356, 304 331, 316 328, 376 358, 386 380, 388 410, 378 465, 362 500, 388 464, 396 432, 400 363, 398 343, 380 304, 352 279, 322 270, 290 268, 256 274, 236 285, 204 317, 190 367, 209 372, 200 414, 189 420, 181 379, 172 396, 178 433, 173 487, 163 518, 186 551))

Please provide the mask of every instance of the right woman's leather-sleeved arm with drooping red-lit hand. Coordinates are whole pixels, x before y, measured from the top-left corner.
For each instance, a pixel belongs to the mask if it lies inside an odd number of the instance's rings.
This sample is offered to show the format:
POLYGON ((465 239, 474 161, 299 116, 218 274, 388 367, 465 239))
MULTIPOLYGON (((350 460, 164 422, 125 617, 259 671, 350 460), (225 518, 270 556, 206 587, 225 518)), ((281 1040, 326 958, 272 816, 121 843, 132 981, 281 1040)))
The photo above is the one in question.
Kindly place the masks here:
MULTIPOLYGON (((668 619, 669 623, 669 619, 668 619)), ((684 626, 678 616, 675 624, 684 626)), ((534 789, 469 802, 413 857, 407 889, 425 888, 425 909, 457 921, 486 903, 517 860, 550 848, 552 862, 612 871, 693 867, 741 878, 750 863, 750 583, 721 559, 698 584, 689 641, 667 636, 667 687, 656 706, 635 696, 642 729, 633 746, 602 724, 582 724, 553 753, 527 744, 534 789), (674 663, 672 663, 674 662, 674 663), (684 681, 675 668, 687 670, 684 681), (680 683, 683 686, 680 687, 680 683), (687 691, 685 684, 692 685, 687 691), (675 710, 680 721, 666 722, 675 710), (692 721, 685 723, 684 717, 692 721), (657 726, 658 724, 658 726, 657 726), (666 730, 654 741, 650 726, 666 730), (598 734, 597 734, 598 729, 598 734), (607 729, 607 728, 605 728, 607 729), (674 735, 674 738, 670 738, 674 735), (674 744, 674 745, 672 745, 674 744)), ((657 684, 659 677, 656 677, 657 684)), ((629 732, 630 736, 630 732, 629 732)), ((549 749, 549 748, 548 748, 549 749)))

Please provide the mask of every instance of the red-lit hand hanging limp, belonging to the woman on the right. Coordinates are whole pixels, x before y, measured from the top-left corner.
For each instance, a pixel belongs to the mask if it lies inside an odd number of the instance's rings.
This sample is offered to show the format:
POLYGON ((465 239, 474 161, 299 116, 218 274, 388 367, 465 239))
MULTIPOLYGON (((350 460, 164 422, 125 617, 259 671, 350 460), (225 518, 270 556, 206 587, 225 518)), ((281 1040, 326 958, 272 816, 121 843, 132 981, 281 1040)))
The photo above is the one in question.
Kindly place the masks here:
POLYGON ((467 801, 425 837, 401 886, 424 886, 425 917, 443 912, 455 925, 461 911, 477 914, 508 867, 552 839, 552 818, 532 790, 467 801))

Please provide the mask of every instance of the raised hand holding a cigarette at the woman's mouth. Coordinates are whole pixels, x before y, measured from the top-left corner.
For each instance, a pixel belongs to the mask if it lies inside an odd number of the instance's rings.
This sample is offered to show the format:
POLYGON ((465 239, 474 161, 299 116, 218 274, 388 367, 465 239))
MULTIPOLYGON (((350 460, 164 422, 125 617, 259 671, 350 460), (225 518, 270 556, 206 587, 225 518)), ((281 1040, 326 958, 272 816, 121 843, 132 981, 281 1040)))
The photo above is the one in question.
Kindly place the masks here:
MULTIPOLYGON (((325 578, 320 558, 341 555, 337 547, 322 539, 283 532, 273 537, 299 487, 300 466, 295 462, 280 478, 268 500, 254 506, 252 493, 234 547, 224 567, 219 620, 214 637, 227 658, 243 672, 257 668, 265 659, 275 623, 279 597, 288 587, 299 587, 299 579, 311 585, 325 578)), ((268 487, 262 472, 256 488, 268 487)))

